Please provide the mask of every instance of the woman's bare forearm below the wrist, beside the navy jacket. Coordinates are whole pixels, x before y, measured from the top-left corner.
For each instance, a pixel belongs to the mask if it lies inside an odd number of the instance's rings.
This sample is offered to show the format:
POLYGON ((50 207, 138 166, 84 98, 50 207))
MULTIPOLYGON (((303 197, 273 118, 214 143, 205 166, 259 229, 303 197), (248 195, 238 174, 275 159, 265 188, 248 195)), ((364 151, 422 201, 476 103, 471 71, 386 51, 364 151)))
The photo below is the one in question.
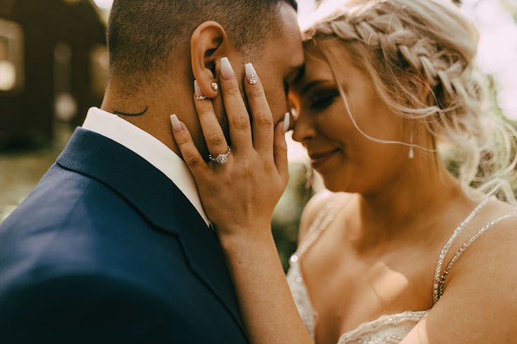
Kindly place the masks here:
MULTIPOLYGON (((313 344, 285 280, 271 231, 220 238, 253 344, 313 344)), ((249 232, 248 232, 249 233, 249 232)))

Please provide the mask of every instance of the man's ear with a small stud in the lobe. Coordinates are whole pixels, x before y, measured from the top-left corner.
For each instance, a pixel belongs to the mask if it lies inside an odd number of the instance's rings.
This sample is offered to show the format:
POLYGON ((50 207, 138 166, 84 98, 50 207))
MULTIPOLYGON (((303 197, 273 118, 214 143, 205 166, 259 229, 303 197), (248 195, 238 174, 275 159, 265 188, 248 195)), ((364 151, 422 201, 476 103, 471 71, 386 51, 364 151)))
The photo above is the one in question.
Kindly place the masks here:
POLYGON ((203 95, 215 98, 216 61, 229 54, 229 42, 225 29, 215 21, 205 21, 194 30, 190 40, 192 73, 203 95))

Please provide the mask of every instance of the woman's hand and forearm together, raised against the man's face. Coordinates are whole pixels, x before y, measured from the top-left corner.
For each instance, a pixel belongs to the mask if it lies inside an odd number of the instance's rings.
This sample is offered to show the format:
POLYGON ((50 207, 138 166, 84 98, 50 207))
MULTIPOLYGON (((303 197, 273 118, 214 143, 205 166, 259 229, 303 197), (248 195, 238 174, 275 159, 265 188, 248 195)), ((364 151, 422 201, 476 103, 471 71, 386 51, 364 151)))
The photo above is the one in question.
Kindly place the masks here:
MULTIPOLYGON (((253 70, 251 66, 246 70, 249 81, 253 70)), ((225 251, 250 342, 313 344, 292 300, 271 233, 273 209, 288 182, 284 134, 289 117, 274 128, 261 82, 245 82, 250 124, 227 60, 221 60, 221 72, 227 72, 221 73, 220 88, 232 140, 227 162, 205 162, 185 124, 173 115, 176 143, 225 251)), ((227 153, 212 102, 194 97, 194 103, 210 154, 227 153)))

